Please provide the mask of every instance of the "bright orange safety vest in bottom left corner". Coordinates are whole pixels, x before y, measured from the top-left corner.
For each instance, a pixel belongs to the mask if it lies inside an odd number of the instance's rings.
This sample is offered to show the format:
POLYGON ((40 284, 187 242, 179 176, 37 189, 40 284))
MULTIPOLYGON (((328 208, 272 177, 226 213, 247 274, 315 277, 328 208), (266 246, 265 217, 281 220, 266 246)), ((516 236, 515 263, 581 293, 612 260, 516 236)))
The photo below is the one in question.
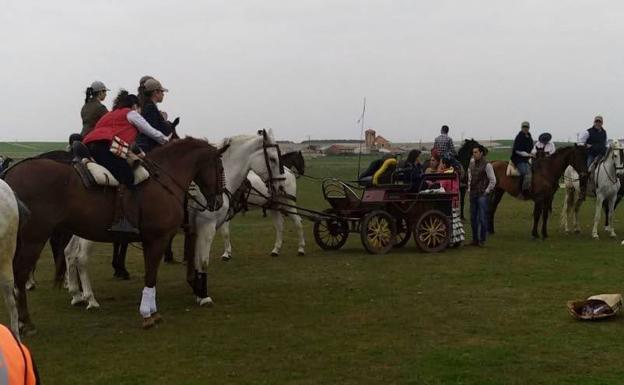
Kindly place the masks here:
POLYGON ((28 348, 6 326, 0 325, 0 384, 36 385, 37 377, 28 348))

